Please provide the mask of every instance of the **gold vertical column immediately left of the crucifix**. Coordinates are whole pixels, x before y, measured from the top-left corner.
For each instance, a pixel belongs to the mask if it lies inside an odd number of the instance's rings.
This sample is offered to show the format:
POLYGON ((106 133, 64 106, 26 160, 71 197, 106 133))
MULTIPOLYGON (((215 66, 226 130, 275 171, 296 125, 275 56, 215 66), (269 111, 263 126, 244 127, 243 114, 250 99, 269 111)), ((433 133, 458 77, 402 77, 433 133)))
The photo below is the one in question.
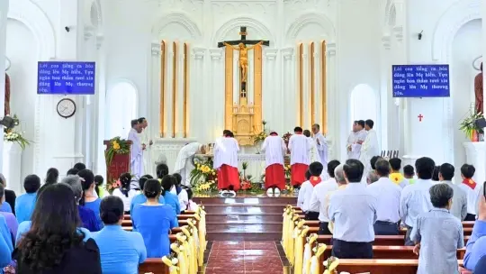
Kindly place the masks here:
POLYGON ((233 130, 233 49, 225 47, 224 127, 233 130))

